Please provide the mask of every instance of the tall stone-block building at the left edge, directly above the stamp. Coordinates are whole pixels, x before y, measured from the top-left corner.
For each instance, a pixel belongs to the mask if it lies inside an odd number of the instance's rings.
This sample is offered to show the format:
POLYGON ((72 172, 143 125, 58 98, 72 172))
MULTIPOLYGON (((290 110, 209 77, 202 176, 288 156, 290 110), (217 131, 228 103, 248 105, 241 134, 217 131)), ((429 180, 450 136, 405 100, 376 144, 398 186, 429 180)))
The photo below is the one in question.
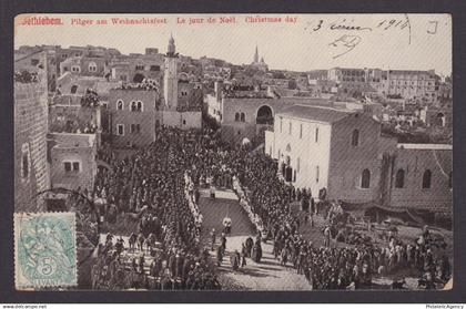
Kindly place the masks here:
MULTIPOLYGON (((32 63, 45 53, 34 54, 14 63, 14 71, 33 74, 33 79, 14 78, 14 209, 34 212, 37 196, 50 187, 47 161, 48 72, 44 65, 32 63)), ((26 73, 24 73, 26 75, 26 73)), ((23 75, 23 76, 24 76, 23 75)), ((30 75, 29 75, 30 76, 30 75)))

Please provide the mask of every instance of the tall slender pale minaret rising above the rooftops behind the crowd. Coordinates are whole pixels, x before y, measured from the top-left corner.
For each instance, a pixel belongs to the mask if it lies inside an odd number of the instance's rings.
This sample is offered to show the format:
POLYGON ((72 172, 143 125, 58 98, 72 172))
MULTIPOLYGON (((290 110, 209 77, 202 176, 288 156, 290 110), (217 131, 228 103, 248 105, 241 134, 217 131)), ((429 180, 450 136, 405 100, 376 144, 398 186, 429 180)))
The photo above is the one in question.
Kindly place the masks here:
POLYGON ((169 110, 176 110, 178 106, 178 53, 173 37, 170 37, 169 49, 165 55, 165 70, 163 74, 163 96, 169 110))

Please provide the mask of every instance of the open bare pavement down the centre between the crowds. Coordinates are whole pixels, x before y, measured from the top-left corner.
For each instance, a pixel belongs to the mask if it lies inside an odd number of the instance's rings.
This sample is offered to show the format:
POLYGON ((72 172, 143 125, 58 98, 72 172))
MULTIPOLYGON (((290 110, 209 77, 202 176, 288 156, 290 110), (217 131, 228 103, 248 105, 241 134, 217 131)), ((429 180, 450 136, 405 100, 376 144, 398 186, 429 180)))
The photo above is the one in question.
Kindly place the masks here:
MULTIPOLYGON (((199 208, 204 217, 201 241, 210 246, 210 231, 215 228, 217 245, 223 229, 222 220, 229 215, 232 219, 232 233, 226 237, 226 256, 217 268, 220 281, 226 289, 234 290, 310 290, 311 286, 302 275, 281 266, 272 255, 272 244, 262 244, 263 258, 260 264, 247 258, 247 265, 233 271, 230 255, 234 250, 241 253, 241 244, 255 230, 247 215, 240 206, 232 190, 217 190, 216 198, 209 197, 209 190, 201 192, 199 208)), ((211 251, 215 259, 215 251, 211 251)))

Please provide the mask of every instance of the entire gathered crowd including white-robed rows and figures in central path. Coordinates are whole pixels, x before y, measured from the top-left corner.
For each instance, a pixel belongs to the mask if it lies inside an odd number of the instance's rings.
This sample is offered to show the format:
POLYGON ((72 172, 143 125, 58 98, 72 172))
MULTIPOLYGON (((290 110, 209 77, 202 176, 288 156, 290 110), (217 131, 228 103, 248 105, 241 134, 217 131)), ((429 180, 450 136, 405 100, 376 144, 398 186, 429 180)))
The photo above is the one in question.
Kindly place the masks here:
POLYGON ((221 289, 217 268, 226 262, 237 271, 261 264, 266 241, 277 264, 304 276, 314 290, 371 289, 377 276, 393 277, 393 289, 406 288, 397 274, 417 276, 418 288, 434 289, 450 278, 448 257, 438 255, 446 244, 435 241, 427 226, 413 243, 391 234, 383 246, 369 236, 335 230, 342 227, 338 212, 323 206, 322 192, 316 203, 311 189, 295 189, 280 178, 270 157, 247 145, 233 150, 211 128, 202 134, 164 128, 154 145, 111 166, 95 182, 94 198, 105 200, 99 214, 107 226, 122 218, 138 224, 124 237, 101 237, 92 269, 95 289, 221 289), (231 248, 235 223, 225 214, 223 230, 209 230, 210 239, 201 244, 209 215, 197 207, 202 188, 210 199, 217 188, 232 189, 256 235, 231 248), (291 212, 293 203, 301 212, 291 212), (322 229, 320 239, 302 235, 307 225, 322 229))

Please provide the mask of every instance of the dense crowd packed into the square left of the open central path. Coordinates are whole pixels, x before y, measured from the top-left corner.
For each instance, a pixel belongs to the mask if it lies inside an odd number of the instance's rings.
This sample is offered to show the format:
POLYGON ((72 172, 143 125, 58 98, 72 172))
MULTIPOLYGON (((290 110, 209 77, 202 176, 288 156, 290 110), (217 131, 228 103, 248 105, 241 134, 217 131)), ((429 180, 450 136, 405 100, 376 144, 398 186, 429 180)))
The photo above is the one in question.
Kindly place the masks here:
MULTIPOLYGON (((203 135, 162 128, 151 146, 112 159, 110 171, 99 172, 93 198, 103 200, 100 216, 138 220, 138 235, 132 231, 129 246, 115 244, 112 235, 101 244, 94 288, 220 288, 200 245, 202 215, 192 181, 199 182, 197 172, 205 166, 200 151, 205 143, 203 135)), ((102 157, 114 156, 102 152, 102 157)))

